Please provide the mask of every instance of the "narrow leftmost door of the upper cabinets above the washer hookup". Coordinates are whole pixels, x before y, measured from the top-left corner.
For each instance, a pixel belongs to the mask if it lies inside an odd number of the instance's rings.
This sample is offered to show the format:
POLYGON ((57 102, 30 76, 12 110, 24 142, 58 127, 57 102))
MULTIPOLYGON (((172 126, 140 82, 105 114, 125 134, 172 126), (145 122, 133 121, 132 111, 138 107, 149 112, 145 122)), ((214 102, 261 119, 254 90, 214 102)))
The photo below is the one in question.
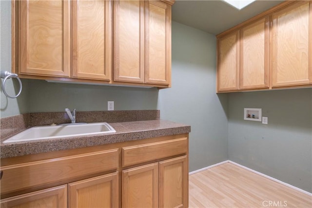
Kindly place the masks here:
POLYGON ((218 40, 218 91, 239 88, 239 32, 218 40))

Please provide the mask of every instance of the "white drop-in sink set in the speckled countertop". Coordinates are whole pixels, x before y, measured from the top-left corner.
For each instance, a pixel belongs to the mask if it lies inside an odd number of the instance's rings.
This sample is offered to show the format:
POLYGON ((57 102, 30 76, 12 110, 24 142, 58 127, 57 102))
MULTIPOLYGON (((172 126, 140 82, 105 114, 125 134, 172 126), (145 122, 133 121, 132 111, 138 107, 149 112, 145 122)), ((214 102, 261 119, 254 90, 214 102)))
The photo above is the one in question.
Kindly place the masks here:
POLYGON ((44 139, 84 136, 92 134, 115 133, 116 130, 107 123, 90 123, 76 125, 35 126, 3 141, 3 143, 25 142, 44 139))

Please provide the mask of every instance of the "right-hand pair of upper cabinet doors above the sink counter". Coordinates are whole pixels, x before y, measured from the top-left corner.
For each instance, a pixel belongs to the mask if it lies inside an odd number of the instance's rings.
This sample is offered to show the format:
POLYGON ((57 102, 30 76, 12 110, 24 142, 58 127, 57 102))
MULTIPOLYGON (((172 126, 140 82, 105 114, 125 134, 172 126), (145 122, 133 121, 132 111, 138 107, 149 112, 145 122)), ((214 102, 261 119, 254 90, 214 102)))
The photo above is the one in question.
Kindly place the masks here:
POLYGON ((170 85, 170 4, 114 1, 114 43, 114 81, 170 85))

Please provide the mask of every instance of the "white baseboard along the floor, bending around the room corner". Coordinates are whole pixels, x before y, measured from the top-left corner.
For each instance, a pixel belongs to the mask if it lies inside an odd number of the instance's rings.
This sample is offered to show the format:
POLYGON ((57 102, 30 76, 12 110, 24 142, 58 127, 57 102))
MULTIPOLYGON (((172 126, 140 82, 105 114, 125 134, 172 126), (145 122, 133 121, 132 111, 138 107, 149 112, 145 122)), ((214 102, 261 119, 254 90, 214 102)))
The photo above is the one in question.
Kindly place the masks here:
POLYGON ((275 181, 275 182, 277 182, 277 183, 279 183, 279 184, 282 184, 282 185, 284 185, 284 186, 286 186, 286 187, 290 187, 290 188, 292 188, 292 189, 294 189, 294 190, 297 190, 297 191, 300 191, 300 192, 302 192, 302 193, 308 194, 309 196, 312 196, 312 193, 310 193, 310 192, 308 192, 308 191, 305 191, 305 190, 303 190, 303 189, 301 189, 301 188, 298 188, 298 187, 294 187, 294 186, 292 186, 292 185, 290 185, 290 184, 287 184, 287 183, 285 183, 285 182, 283 182, 283 181, 280 181, 280 180, 278 180, 278 179, 276 179, 276 178, 273 178, 273 177, 271 177, 271 176, 268 176, 268 175, 266 175, 266 174, 260 173, 260 172, 258 172, 258 171, 256 171, 256 170, 253 170, 253 169, 249 168, 249 167, 242 166, 242 165, 240 165, 240 164, 238 164, 238 163, 235 163, 235 162, 233 162, 233 161, 231 161, 231 160, 226 160, 226 161, 223 161, 223 162, 221 162, 221 163, 217 163, 217 164, 212 165, 212 166, 208 166, 208 167, 204 167, 204 168, 201 168, 201 169, 192 171, 192 172, 189 173, 189 175, 192 175, 192 174, 194 174, 194 173, 197 173, 197 172, 200 172, 200 171, 203 171, 203 170, 207 170, 207 169, 209 169, 209 168, 212 168, 212 167, 215 167, 215 166, 219 166, 219 165, 222 165, 222 164, 225 164, 225 163, 231 163, 231 164, 233 164, 233 165, 235 165, 235 166, 239 166, 239 167, 244 168, 244 169, 246 169, 246 170, 249 170, 249 171, 251 171, 251 172, 253 172, 253 173, 256 173, 256 174, 258 174, 258 175, 261 175, 261 176, 263 176, 263 177, 265 177, 265 178, 268 178, 268 179, 270 179, 270 180, 272 180, 272 181, 275 181))

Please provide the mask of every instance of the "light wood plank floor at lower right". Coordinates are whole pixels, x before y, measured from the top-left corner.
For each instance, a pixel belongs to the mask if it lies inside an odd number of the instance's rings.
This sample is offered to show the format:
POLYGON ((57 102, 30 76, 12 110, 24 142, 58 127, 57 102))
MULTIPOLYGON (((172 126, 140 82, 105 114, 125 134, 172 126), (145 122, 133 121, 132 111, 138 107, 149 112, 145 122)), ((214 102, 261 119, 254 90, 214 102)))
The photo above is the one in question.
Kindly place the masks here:
POLYGON ((190 208, 312 208, 312 196, 231 163, 189 176, 190 208))

